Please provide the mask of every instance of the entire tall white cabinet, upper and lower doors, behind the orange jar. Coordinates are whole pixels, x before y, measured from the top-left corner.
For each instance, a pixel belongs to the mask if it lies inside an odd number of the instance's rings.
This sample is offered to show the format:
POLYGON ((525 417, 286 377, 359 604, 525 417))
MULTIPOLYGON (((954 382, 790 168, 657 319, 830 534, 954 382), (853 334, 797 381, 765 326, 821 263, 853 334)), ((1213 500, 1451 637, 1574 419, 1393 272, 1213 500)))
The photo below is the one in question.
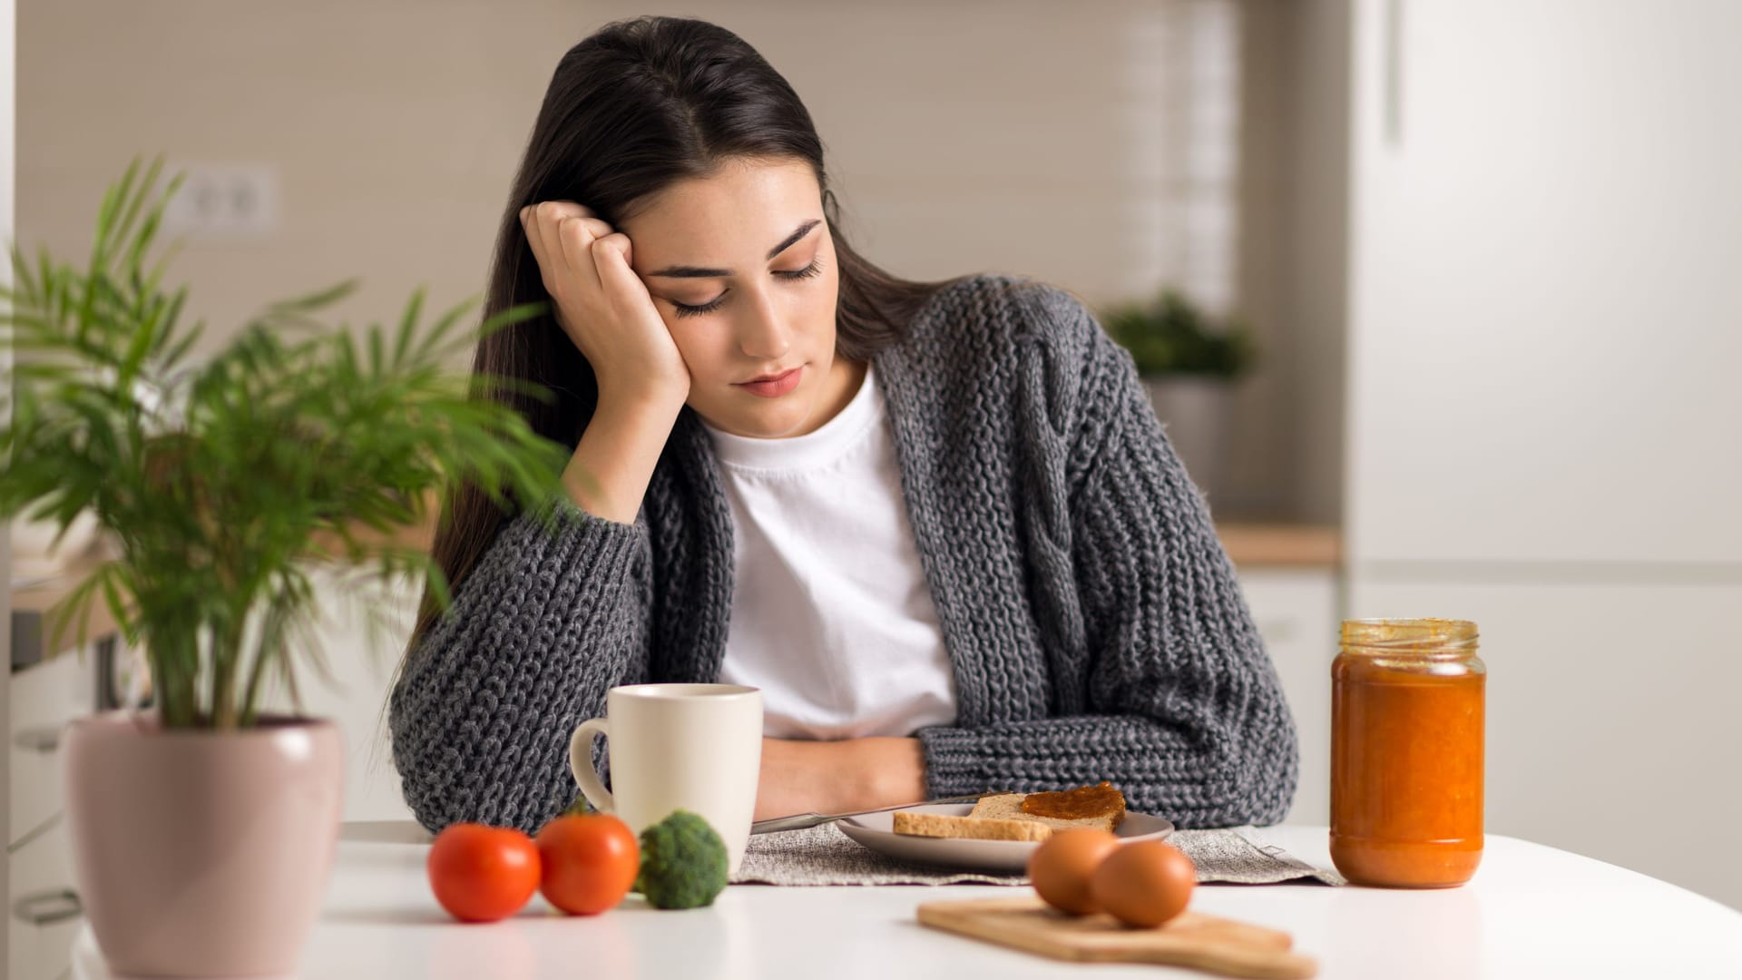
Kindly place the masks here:
POLYGON ((1348 612, 1477 623, 1495 832, 1742 907, 1742 3, 1352 14, 1348 612))

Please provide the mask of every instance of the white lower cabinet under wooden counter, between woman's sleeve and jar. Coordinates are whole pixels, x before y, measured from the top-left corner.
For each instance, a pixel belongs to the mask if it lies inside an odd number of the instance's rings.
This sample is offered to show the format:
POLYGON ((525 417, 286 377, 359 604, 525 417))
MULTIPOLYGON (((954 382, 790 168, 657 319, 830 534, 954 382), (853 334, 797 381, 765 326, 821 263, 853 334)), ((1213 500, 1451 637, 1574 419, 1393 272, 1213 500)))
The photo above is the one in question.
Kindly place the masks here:
POLYGON ((1240 591, 1294 713, 1301 767, 1289 823, 1331 820, 1331 659, 1341 614, 1331 567, 1242 565, 1240 591))

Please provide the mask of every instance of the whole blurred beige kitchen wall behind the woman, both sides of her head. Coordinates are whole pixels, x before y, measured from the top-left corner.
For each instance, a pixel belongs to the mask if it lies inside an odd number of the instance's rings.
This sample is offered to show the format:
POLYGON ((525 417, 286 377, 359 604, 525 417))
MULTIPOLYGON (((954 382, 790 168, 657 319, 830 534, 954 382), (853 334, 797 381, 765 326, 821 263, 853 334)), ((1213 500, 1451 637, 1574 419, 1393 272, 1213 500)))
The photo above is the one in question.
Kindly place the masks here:
MULTIPOLYGON (((1296 242, 1286 232, 1289 140, 1300 136, 1284 7, 735 0, 681 12, 735 30, 793 82, 827 145, 850 232, 894 272, 1016 272, 1096 303, 1164 281, 1212 288, 1225 272, 1228 303, 1252 314, 1268 356, 1240 392, 1219 507, 1287 514, 1326 507, 1300 480, 1312 469, 1300 446, 1315 445, 1300 432, 1315 417, 1303 399, 1324 392, 1294 377, 1301 286, 1287 281, 1296 242), (1198 105, 1181 45, 1218 16, 1244 24, 1246 54, 1239 220, 1226 241, 1192 225, 1204 187, 1183 164, 1179 122, 1198 105)), ((178 258, 193 314, 211 321, 207 349, 263 300, 343 277, 364 281, 341 309, 352 321, 390 317, 420 282, 441 303, 477 295, 557 58, 645 10, 23 0, 19 239, 82 255, 103 187, 136 153, 270 164, 280 230, 190 241, 178 258)))

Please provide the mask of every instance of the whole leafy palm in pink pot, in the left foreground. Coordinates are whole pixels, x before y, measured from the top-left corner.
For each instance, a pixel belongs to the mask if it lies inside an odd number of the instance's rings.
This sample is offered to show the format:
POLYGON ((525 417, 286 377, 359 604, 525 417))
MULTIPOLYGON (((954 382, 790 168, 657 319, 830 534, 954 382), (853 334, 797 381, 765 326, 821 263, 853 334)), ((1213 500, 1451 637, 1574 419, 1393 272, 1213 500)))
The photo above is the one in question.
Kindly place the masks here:
MULTIPOLYGON (((422 326, 326 328, 352 282, 270 303, 202 363, 186 288, 150 263, 171 180, 134 160, 103 199, 91 262, 16 246, 0 289, 14 345, 0 425, 0 516, 96 514, 117 542, 61 610, 106 602, 152 673, 150 710, 73 722, 66 821, 91 928, 115 973, 284 975, 319 912, 340 821, 343 755, 331 722, 293 704, 321 568, 361 581, 446 582, 397 544, 460 480, 550 500, 566 452, 537 436, 488 378, 449 368, 477 331, 469 303, 422 326)), ((507 384, 507 382, 503 382, 507 384)), ((3 391, 3 389, 0 389, 3 391)), ((542 507, 533 507, 542 509, 542 507)), ((544 509, 549 514, 549 509, 544 509)))

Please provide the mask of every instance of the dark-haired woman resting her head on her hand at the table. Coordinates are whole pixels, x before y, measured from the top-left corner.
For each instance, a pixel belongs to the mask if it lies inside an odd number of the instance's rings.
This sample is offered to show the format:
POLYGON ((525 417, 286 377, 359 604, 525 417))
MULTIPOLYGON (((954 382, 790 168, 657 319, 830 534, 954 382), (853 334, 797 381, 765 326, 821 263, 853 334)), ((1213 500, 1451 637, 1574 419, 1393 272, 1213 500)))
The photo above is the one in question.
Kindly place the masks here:
POLYGON ((1101 779, 1181 827, 1287 811, 1293 720, 1131 359, 1059 289, 854 253, 740 38, 563 58, 486 312, 535 300, 476 370, 557 392, 496 398, 573 446, 568 495, 552 534, 462 488, 436 541, 455 609, 390 698, 425 827, 537 830, 639 682, 763 689, 758 820, 1101 779))

